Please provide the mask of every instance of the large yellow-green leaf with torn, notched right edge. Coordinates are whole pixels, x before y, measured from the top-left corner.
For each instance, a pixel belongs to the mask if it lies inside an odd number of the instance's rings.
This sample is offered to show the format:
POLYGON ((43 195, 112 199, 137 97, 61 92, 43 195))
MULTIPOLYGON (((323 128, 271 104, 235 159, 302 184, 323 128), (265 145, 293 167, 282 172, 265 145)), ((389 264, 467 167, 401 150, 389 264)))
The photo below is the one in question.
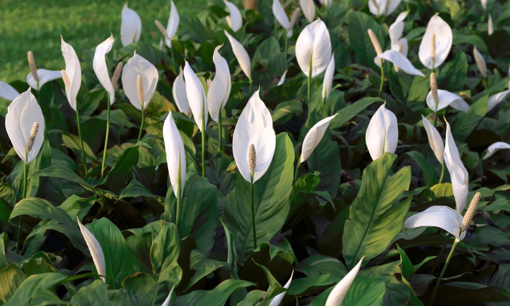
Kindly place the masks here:
POLYGON ((389 176, 396 157, 386 152, 363 171, 360 192, 344 227, 342 253, 349 268, 363 256, 364 263, 376 257, 402 229, 411 197, 396 205, 393 202, 409 189, 411 167, 389 176))

